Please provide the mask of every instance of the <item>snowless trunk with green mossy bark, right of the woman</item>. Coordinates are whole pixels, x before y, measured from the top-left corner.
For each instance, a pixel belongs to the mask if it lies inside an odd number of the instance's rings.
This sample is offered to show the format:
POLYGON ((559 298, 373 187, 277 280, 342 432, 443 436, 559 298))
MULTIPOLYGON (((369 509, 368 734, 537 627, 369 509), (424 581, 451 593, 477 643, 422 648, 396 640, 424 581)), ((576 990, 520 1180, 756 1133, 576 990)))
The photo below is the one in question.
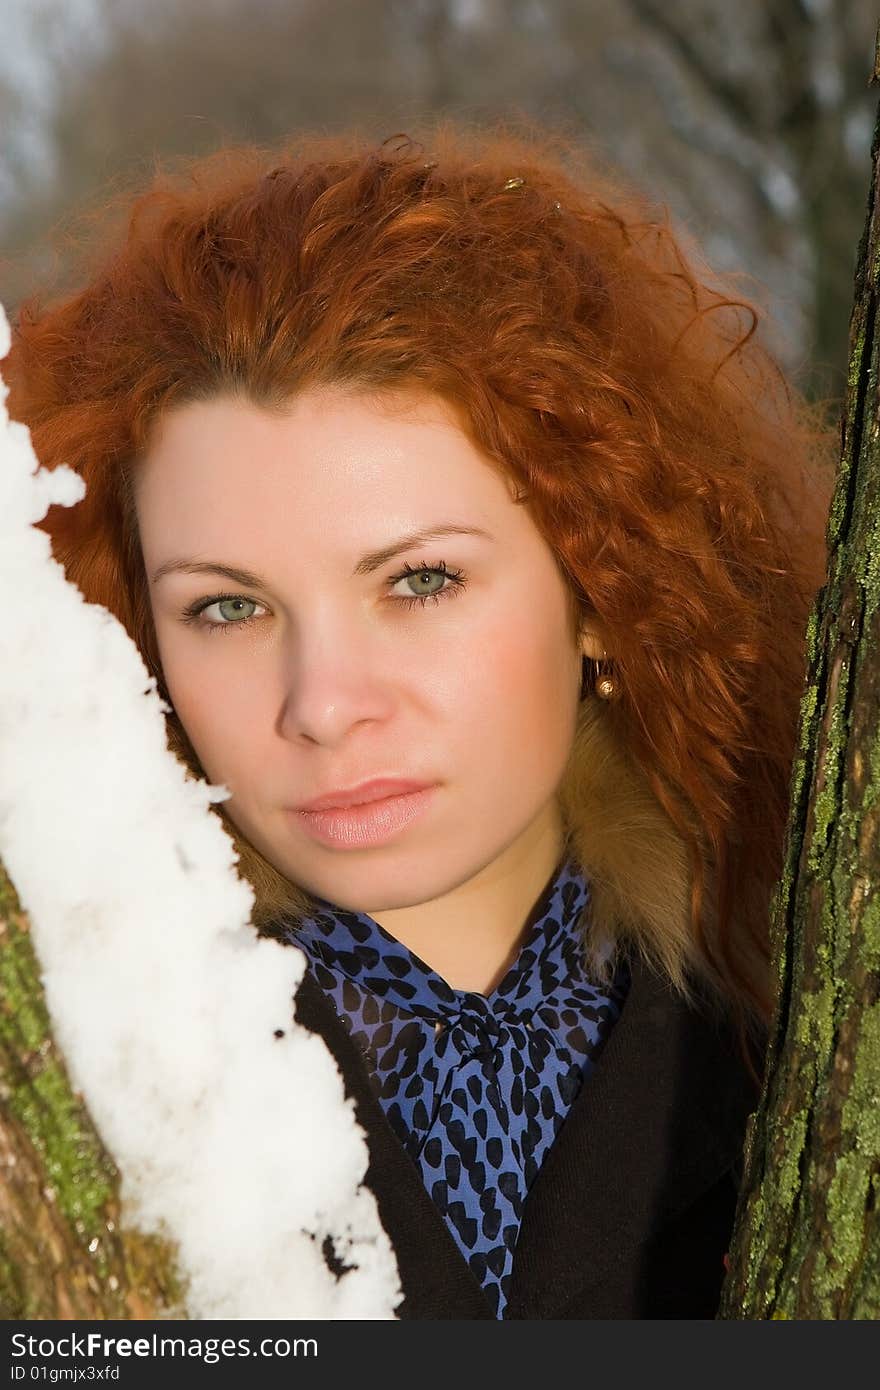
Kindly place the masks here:
POLYGON ((720 1318, 880 1318, 880 115, 872 164, 773 903, 780 992, 720 1318))

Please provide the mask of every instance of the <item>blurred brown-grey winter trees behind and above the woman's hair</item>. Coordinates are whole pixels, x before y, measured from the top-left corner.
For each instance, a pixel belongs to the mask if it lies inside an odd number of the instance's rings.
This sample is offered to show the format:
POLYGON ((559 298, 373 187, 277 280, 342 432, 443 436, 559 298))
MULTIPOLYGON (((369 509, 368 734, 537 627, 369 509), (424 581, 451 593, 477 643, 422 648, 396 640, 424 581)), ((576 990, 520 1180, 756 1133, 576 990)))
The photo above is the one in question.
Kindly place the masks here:
POLYGON ((156 154, 435 113, 563 125, 842 395, 876 0, 0 0, 0 300, 156 154))

